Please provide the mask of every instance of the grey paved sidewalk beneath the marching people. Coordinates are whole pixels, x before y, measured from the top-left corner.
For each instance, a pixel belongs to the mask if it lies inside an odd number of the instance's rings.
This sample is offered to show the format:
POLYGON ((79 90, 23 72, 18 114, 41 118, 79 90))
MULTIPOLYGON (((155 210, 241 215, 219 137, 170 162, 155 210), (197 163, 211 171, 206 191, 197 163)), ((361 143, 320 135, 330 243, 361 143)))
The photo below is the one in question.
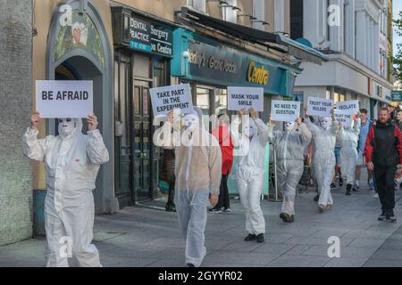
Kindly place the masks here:
MULTIPOLYGON (((364 181, 364 180, 363 180, 364 181)), ((264 200, 265 243, 243 241, 243 208, 231 199, 231 212, 208 214, 203 266, 402 266, 402 191, 397 191, 398 222, 377 221, 380 201, 361 188, 345 196, 332 191, 334 209, 318 214, 313 189, 297 194, 296 221, 279 218, 281 203, 264 200), (340 239, 340 258, 327 255, 331 236, 340 239)), ((184 240, 175 213, 124 208, 96 216, 94 243, 104 266, 183 266, 184 240)), ((0 248, 0 266, 44 266, 44 238, 0 248)))

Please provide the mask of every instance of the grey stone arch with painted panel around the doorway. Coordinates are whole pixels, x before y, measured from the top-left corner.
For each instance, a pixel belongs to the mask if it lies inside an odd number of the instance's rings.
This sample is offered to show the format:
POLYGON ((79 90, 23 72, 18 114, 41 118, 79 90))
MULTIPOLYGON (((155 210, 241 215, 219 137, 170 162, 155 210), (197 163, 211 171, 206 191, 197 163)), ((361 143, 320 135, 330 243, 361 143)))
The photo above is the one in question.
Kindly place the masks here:
MULTIPOLYGON (((74 66, 82 79, 94 80, 94 111, 110 156, 96 178, 95 208, 97 214, 112 213, 118 209, 113 171, 113 54, 100 13, 88 0, 68 0, 54 10, 46 46, 46 79, 54 80, 63 62, 74 66)), ((47 130, 55 134, 53 120, 47 130)))

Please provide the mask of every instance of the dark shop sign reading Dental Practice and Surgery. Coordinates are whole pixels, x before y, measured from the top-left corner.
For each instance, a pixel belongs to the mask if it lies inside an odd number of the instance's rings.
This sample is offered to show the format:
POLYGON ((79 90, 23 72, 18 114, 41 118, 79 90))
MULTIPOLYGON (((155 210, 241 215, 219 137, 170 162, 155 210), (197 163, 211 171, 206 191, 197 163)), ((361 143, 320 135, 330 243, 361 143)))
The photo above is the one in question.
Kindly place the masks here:
POLYGON ((115 45, 125 45, 144 53, 173 56, 171 26, 138 16, 121 7, 113 7, 112 12, 115 45))

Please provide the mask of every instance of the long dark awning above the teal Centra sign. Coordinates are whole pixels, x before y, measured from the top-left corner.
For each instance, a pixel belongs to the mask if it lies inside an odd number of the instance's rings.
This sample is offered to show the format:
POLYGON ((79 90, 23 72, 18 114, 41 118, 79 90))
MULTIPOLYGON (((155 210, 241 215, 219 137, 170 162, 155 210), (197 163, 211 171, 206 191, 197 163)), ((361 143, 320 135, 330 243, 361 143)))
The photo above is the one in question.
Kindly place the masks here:
POLYGON ((310 61, 316 64, 321 64, 322 61, 328 61, 328 57, 325 54, 280 34, 272 34, 260 29, 241 26, 227 20, 220 20, 205 13, 197 12, 187 6, 181 7, 180 16, 206 27, 220 30, 230 36, 244 39, 250 43, 264 45, 281 53, 289 53, 289 55, 300 60, 310 61), (281 48, 281 46, 287 49, 281 48))

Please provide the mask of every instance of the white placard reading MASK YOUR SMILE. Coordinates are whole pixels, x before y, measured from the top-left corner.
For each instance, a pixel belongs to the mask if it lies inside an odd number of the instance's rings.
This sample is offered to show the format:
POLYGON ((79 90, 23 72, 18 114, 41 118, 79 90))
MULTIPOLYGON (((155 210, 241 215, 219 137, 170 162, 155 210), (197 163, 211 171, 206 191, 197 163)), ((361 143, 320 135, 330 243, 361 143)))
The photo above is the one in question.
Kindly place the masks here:
POLYGON ((264 88, 259 87, 228 87, 228 110, 264 111, 264 88))

